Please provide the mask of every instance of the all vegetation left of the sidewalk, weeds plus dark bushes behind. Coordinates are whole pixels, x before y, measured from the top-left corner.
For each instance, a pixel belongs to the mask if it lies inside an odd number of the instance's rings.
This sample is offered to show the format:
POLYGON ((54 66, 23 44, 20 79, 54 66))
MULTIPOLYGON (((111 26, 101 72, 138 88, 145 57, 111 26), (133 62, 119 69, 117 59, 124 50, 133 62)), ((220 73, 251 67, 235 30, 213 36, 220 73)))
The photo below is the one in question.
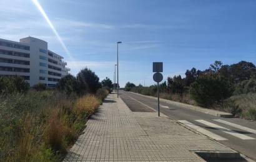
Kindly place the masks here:
POLYGON ((56 89, 0 77, 0 161, 61 161, 109 94, 102 85, 87 68, 56 89))

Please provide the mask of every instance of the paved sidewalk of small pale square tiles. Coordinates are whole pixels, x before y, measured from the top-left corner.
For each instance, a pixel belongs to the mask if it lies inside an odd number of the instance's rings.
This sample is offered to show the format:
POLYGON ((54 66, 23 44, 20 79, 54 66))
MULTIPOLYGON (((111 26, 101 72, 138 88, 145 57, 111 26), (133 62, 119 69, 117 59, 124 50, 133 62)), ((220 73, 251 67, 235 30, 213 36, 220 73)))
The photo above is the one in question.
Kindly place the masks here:
POLYGON ((64 161, 204 161, 194 151, 233 150, 109 94, 64 161))

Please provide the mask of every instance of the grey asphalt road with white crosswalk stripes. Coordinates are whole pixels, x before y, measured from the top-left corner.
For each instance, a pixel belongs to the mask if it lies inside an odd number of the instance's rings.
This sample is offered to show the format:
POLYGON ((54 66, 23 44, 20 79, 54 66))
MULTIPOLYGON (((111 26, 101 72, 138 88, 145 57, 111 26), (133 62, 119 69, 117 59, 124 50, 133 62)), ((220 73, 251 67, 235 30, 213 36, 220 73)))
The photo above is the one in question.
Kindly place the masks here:
MULTIPOLYGON (((120 97, 132 111, 157 110, 157 100, 126 91, 120 97), (151 109, 150 109, 151 108, 151 109)), ((156 111, 155 111, 156 112, 156 111)), ((238 118, 222 118, 191 109, 160 102, 160 112, 189 127, 193 127, 218 142, 256 160, 256 122, 238 118)), ((157 112, 155 113, 157 115, 157 112)))

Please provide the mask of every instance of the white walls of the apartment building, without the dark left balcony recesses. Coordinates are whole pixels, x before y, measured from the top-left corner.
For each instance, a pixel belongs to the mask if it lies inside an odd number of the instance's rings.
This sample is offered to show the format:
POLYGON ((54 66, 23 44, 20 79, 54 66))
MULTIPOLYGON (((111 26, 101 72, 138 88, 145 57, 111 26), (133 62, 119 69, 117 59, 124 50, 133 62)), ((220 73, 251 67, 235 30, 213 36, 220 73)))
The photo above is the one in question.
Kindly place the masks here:
POLYGON ((12 42, 10 40, 0 39, 0 66, 12 67, 12 68, 29 68, 29 73, 16 72, 16 71, 2 71, 0 69, 1 75, 22 75, 29 76, 29 83, 31 86, 37 83, 43 83, 47 86, 52 86, 57 83, 62 76, 65 76, 70 69, 66 68, 66 63, 62 61, 63 57, 57 53, 51 52, 47 49, 47 42, 40 40, 38 38, 27 37, 22 38, 20 42, 12 42), (30 50, 24 50, 14 47, 2 46, 1 42, 15 43, 17 45, 26 45, 30 50), (30 57, 12 56, 12 55, 2 55, 2 50, 12 51, 12 52, 23 52, 29 53, 30 57), (52 56, 49 53, 53 54, 52 56), (16 59, 30 61, 30 65, 21 65, 14 63, 4 63, 1 58, 16 59), (44 59, 41 59, 44 58, 44 59), (55 63, 49 61, 54 60, 55 63), (43 66, 41 66, 43 65, 43 66), (55 70, 51 67, 54 66, 55 70), (42 73, 45 72, 45 73, 42 73), (53 74, 53 75, 52 75, 53 74))

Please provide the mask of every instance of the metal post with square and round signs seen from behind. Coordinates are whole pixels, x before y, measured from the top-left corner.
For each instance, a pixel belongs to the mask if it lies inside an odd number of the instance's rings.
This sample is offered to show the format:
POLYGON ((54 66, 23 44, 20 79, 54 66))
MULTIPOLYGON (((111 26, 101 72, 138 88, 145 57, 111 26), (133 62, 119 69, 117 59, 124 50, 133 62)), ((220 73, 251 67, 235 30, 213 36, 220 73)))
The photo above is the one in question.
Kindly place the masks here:
POLYGON ((163 72, 163 63, 162 62, 154 62, 153 63, 153 72, 156 72, 153 75, 153 79, 155 82, 157 82, 157 110, 158 110, 158 116, 160 117, 159 82, 162 81, 163 75, 159 72, 163 72))

